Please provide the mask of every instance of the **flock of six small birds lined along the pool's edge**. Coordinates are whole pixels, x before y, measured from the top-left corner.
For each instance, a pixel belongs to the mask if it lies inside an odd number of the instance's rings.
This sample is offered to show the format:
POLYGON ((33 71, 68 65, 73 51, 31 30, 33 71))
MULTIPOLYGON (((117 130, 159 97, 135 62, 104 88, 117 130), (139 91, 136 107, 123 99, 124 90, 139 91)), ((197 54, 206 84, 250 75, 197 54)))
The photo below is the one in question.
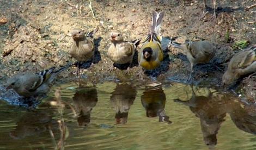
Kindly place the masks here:
MULTIPOLYGON (((138 49, 138 64, 146 70, 154 70, 161 65, 163 61, 163 48, 161 46, 161 22, 164 17, 164 12, 153 12, 152 23, 149 27, 149 33, 144 40, 138 39, 134 41, 124 41, 121 32, 114 30, 110 33, 111 45, 108 48, 107 57, 115 64, 127 64, 130 66, 126 71, 129 71, 135 55, 137 46, 142 42, 142 46, 138 49)), ((93 36, 97 32, 95 28, 92 32, 85 34, 83 30, 76 29, 72 32, 74 40, 69 54, 72 58, 78 61, 77 75, 80 74, 80 63, 92 60, 95 54, 95 45, 93 36)), ((178 48, 179 52, 186 55, 190 61, 191 70, 188 80, 192 78, 193 66, 210 62, 215 57, 216 47, 209 41, 186 41, 178 43, 175 40, 170 40, 169 47, 178 48)), ((228 69, 222 77, 222 84, 229 86, 238 78, 247 76, 256 72, 256 45, 244 49, 236 53, 231 58, 228 69)), ((214 65, 214 64, 212 64, 214 65)), ((20 96, 32 97, 44 95, 50 90, 50 86, 54 77, 60 72, 72 66, 68 64, 56 70, 51 67, 40 73, 27 72, 25 74, 17 74, 7 80, 7 89, 13 89, 20 96)), ((214 65, 216 69, 218 68, 214 65)), ((113 70, 113 66, 110 68, 113 70)))

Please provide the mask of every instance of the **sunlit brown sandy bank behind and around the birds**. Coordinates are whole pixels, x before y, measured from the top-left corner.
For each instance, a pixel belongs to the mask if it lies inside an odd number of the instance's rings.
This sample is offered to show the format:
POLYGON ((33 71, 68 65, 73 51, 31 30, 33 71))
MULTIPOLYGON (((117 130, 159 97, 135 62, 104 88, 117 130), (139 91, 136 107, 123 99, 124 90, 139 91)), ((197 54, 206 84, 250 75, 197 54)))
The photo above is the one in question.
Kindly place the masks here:
MULTIPOLYGON (((89 1, 0 1, 0 18, 7 19, 7 23, 0 25, 0 81, 17 72, 36 72, 74 62, 68 54, 72 42, 70 32, 75 28, 89 32, 96 27, 99 27, 95 35, 96 56, 93 64, 84 64, 83 76, 94 83, 136 79, 142 70, 137 67, 136 58, 129 74, 123 70, 108 72, 113 64, 106 57, 110 44, 109 32, 118 29, 125 40, 144 38, 153 10, 166 12, 161 30, 164 37, 178 36, 177 41, 184 42, 197 36, 214 43, 217 53, 212 62, 223 70, 233 54, 241 51, 233 48, 235 41, 248 40, 251 45, 255 43, 256 7, 248 8, 256 3, 255 0, 217 1, 215 20, 211 19, 211 1, 208 1, 206 14, 202 1, 183 2, 92 1, 94 17, 89 1), (230 33, 229 42, 225 38, 227 30, 230 33)), ((184 82, 189 73, 189 62, 184 55, 177 54, 174 48, 167 49, 166 43, 168 40, 163 42, 166 50, 161 67, 144 71, 142 78, 184 82)), ((75 71, 74 67, 70 73, 62 73, 62 79, 75 77, 75 71)), ((193 76, 196 84, 220 86, 222 74, 211 65, 197 65, 193 76)), ((253 82, 255 77, 244 79, 240 89, 245 91, 243 93, 249 93, 248 97, 254 94, 255 99, 255 84, 249 84, 253 82)))

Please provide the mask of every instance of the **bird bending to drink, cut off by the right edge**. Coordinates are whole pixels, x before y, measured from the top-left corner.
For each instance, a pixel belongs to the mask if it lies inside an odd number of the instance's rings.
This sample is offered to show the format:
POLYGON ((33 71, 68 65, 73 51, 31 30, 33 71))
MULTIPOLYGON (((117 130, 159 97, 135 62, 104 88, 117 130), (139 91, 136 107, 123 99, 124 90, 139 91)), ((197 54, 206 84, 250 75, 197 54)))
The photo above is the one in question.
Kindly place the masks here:
POLYGON ((236 53, 222 76, 222 85, 227 87, 242 76, 256 72, 256 45, 236 53))

